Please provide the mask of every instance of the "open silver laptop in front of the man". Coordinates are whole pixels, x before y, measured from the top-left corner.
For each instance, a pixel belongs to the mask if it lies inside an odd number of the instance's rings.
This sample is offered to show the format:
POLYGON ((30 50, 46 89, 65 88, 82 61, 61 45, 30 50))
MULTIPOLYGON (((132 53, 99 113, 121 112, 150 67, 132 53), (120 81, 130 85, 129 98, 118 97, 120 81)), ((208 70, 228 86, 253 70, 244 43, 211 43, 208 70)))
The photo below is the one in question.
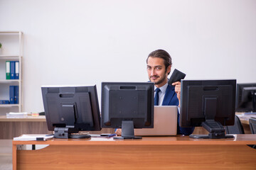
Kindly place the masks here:
POLYGON ((177 106, 154 106, 154 128, 134 129, 136 136, 177 135, 177 106))

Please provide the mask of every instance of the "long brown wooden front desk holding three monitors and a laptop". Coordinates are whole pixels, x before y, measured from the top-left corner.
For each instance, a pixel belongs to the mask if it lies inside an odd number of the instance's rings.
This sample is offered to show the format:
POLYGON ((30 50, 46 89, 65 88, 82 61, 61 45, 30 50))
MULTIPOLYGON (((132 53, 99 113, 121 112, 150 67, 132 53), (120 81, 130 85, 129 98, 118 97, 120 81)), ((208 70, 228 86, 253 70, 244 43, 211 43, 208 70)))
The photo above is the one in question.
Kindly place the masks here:
POLYGON ((256 135, 13 141, 13 169, 255 169, 256 149, 247 145, 256 145, 256 135), (49 146, 17 150, 17 145, 49 146))

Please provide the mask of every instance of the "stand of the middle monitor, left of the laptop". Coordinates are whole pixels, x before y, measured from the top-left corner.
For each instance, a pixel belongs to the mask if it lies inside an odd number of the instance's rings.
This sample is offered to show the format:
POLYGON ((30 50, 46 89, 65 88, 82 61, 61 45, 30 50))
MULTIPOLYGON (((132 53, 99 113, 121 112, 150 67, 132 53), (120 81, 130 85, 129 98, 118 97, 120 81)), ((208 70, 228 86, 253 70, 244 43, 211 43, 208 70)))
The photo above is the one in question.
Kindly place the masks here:
POLYGON ((134 123, 132 120, 122 120, 122 136, 114 137, 115 140, 142 139, 134 136, 134 123))

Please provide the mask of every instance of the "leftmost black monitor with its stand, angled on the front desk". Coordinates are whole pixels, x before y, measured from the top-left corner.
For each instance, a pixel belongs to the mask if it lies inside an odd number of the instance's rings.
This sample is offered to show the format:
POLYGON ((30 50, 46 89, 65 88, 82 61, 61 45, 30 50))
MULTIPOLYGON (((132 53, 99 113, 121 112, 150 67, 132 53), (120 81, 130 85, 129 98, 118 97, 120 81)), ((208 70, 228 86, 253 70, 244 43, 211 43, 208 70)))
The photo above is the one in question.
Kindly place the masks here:
POLYGON ((101 130, 95 86, 42 86, 48 130, 56 138, 87 138, 79 131, 101 130))

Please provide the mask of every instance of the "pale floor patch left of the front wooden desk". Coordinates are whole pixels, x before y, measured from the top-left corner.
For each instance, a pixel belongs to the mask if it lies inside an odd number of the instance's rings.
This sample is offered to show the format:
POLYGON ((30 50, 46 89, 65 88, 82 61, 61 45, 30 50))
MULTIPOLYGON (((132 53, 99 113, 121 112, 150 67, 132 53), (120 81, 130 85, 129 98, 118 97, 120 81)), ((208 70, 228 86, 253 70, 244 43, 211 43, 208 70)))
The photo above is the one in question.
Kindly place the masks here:
POLYGON ((0 169, 12 170, 11 140, 0 140, 0 169))

